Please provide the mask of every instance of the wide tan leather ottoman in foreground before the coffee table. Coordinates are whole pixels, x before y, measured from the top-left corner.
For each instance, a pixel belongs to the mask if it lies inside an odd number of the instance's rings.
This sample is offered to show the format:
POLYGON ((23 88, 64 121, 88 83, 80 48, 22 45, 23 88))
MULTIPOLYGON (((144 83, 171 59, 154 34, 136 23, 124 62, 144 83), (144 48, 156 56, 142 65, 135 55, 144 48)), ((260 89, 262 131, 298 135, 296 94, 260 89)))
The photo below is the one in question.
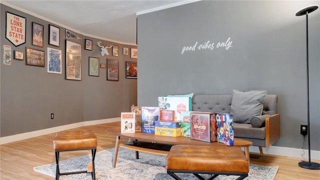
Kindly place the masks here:
POLYGON ((174 173, 212 174, 208 179, 223 175, 239 175, 237 180, 248 176, 249 164, 240 147, 173 145, 166 157, 166 170, 174 179, 174 173))

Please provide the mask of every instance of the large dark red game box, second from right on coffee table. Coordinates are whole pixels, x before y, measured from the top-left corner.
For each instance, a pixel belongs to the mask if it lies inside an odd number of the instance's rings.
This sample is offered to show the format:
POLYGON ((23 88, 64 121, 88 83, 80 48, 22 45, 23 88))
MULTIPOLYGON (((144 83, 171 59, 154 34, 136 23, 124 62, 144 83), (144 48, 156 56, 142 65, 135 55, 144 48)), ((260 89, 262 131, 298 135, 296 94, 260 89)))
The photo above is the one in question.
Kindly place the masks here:
POLYGON ((215 141, 215 135, 211 138, 211 133, 215 134, 215 126, 211 124, 215 121, 213 112, 191 112, 190 113, 190 138, 205 142, 215 141))

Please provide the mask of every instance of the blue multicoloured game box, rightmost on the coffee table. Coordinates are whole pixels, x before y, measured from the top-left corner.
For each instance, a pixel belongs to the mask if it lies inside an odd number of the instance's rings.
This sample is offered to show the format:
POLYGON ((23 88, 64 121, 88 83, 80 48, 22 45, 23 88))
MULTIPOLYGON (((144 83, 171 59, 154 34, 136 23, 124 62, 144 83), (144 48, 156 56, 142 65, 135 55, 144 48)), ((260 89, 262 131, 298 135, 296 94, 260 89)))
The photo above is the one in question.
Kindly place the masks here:
POLYGON ((233 115, 228 113, 217 113, 216 119, 216 141, 226 145, 234 144, 233 115))

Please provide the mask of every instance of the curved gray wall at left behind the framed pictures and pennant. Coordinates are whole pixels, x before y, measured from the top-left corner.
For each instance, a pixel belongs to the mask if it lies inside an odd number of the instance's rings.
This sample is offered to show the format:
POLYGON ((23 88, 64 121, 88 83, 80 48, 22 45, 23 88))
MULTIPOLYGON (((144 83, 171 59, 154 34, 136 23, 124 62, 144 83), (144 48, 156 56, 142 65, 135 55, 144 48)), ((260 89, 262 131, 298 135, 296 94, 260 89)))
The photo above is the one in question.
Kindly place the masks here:
MULTIPOLYGON (((65 42, 64 29, 61 26, 34 17, 11 7, 1 5, 0 42, 10 45, 13 50, 24 52, 25 47, 45 51, 45 67, 25 65, 24 60, 12 59, 12 65, 0 63, 0 136, 8 136, 33 130, 45 129, 75 122, 119 117, 121 111, 129 111, 130 105, 136 104, 137 80, 125 78, 125 61, 136 61, 129 55, 122 55, 122 47, 132 45, 117 44, 102 40, 103 44, 118 45, 118 56, 100 55, 99 39, 77 34, 81 39, 71 40, 81 44, 81 80, 65 80, 65 42), (15 47, 5 38, 5 11, 26 17, 26 43, 15 47), (44 25, 44 46, 31 45, 32 21, 44 25), (48 45, 48 24, 60 28, 60 46, 48 45), (84 39, 93 41, 92 51, 84 49, 84 39), (47 47, 62 50, 62 74, 47 73, 47 47), (99 76, 88 75, 88 57, 98 57, 100 63, 106 58, 118 60, 119 81, 106 80, 106 68, 100 68, 99 76), (50 119, 54 113, 54 119, 50 119)), ((3 60, 3 55, 1 57, 3 60)))

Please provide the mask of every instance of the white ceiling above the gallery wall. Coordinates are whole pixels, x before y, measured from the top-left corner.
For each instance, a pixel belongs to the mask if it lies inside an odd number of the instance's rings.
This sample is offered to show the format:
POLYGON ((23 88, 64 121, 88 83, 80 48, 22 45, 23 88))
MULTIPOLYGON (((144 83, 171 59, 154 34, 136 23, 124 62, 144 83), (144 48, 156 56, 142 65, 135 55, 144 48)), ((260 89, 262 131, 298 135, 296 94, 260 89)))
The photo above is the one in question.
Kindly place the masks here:
POLYGON ((83 35, 136 44, 136 13, 142 14, 196 0, 0 0, 83 35))

